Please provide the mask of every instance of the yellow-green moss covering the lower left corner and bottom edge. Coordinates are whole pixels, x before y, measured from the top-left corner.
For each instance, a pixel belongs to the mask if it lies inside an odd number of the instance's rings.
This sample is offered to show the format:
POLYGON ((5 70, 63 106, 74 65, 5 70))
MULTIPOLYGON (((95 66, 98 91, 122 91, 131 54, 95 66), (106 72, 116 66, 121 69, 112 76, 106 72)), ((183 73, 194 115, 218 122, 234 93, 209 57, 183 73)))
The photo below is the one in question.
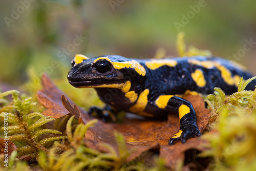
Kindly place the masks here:
MULTIPOLYGON (((88 128, 97 120, 86 124, 77 124, 74 116, 60 119, 45 117, 40 112, 33 112, 36 105, 31 97, 20 99, 18 91, 8 91, 0 94, 0 99, 12 95, 12 102, 6 100, 5 106, 0 109, 0 118, 4 120, 8 114, 8 137, 14 141, 17 151, 9 158, 9 166, 1 165, 2 170, 146 170, 141 161, 127 163, 126 159, 131 152, 127 150, 121 134, 115 133, 118 152, 110 144, 100 144, 107 153, 102 153, 84 145, 83 137, 88 128), (54 129, 49 129, 48 122, 55 122, 54 129), (56 126, 59 125, 59 126, 56 126), (63 129, 63 125, 65 129, 63 129), (58 130, 58 131, 57 131, 58 130), (64 136, 53 136, 62 134, 64 136), (65 140, 66 139, 66 140, 65 140), (17 158, 29 158, 37 164, 28 165, 17 158), (68 158, 68 160, 67 160, 68 158)), ((3 100, 5 101, 5 100, 3 100)), ((0 122, 3 126, 2 122, 0 122)), ((3 131, 4 127, 2 127, 3 131)), ((1 132, 4 137, 4 132, 1 132)), ((3 157, 0 155, 0 157, 3 157)), ((156 160, 157 166, 152 170, 163 168, 162 160, 156 160), (158 162, 159 161, 159 162, 158 162)))

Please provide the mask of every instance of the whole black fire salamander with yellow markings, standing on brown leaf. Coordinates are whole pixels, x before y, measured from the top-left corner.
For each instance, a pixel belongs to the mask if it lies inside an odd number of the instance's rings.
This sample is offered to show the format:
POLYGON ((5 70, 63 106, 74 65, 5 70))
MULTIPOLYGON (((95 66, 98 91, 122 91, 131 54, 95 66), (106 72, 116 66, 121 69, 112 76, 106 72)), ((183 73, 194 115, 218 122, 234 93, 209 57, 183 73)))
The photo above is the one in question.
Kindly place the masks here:
MULTIPOLYGON (((102 110, 93 111, 106 119, 123 110, 147 117, 166 117, 178 112, 180 131, 169 139, 182 143, 193 135, 200 136, 196 113, 191 103, 178 95, 189 92, 209 94, 215 87, 226 94, 237 91, 241 77, 252 75, 243 67, 217 57, 182 57, 164 59, 131 59, 118 55, 88 58, 76 55, 68 73, 70 84, 76 88, 95 88, 106 103, 102 110)), ((246 90, 254 90, 256 81, 246 90)))

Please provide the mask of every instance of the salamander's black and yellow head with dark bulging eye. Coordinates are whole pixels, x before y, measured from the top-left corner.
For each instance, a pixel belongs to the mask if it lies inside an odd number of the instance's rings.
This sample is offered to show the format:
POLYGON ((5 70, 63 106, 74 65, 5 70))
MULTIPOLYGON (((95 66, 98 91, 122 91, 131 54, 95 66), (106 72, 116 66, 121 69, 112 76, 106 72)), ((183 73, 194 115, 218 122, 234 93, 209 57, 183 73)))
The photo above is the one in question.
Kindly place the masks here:
POLYGON ((71 64, 68 80, 76 88, 122 89, 124 82, 131 79, 131 76, 144 76, 146 72, 136 60, 118 55, 94 58, 76 55, 71 64))

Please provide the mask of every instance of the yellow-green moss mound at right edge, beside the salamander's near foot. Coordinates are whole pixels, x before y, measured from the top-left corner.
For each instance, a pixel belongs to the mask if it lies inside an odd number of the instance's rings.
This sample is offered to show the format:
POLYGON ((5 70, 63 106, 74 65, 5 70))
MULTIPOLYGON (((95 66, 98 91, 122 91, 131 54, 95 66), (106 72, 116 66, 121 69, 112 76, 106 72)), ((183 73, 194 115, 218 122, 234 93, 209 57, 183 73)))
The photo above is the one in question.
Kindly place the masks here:
POLYGON ((214 159, 212 170, 256 169, 256 89, 244 90, 255 78, 241 78, 238 92, 228 97, 215 88, 216 95, 205 100, 211 109, 208 128, 215 131, 203 136, 210 142, 210 149, 201 156, 214 159))

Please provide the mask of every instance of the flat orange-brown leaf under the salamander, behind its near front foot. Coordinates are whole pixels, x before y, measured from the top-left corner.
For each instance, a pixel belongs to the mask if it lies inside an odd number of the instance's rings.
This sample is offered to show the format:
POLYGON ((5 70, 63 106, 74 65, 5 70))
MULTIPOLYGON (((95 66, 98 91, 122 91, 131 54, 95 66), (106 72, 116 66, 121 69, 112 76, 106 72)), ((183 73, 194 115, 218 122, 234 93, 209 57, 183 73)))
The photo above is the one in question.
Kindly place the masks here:
MULTIPOLYGON (((208 124, 210 111, 205 109, 205 103, 201 96, 186 96, 184 99, 190 101, 197 114, 197 125, 201 133, 208 124)), ((126 142, 133 145, 150 146, 160 143, 161 146, 169 146, 168 140, 179 131, 178 114, 169 114, 168 120, 138 120, 125 118, 124 123, 112 123, 115 130, 121 132, 126 142)), ((179 144, 180 142, 177 142, 179 144)))

